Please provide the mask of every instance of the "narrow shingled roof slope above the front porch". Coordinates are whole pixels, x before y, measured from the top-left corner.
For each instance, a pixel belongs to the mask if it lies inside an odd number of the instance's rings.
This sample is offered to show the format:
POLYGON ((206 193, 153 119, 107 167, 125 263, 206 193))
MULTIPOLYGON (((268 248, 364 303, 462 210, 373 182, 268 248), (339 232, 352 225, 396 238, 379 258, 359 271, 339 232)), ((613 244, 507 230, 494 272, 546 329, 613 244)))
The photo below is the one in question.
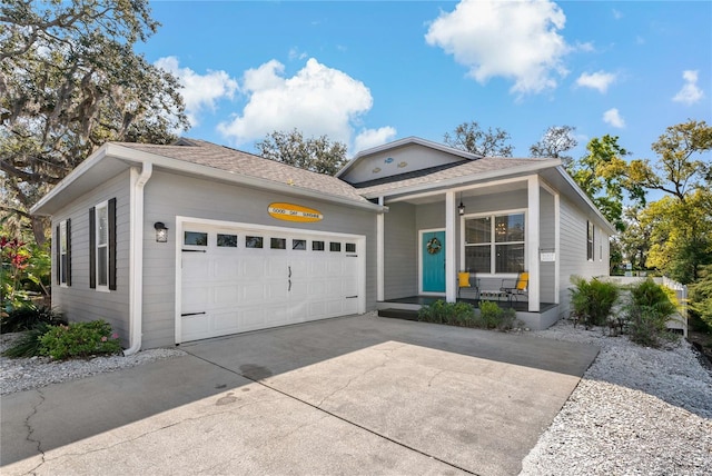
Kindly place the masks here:
MULTIPOLYGON (((527 168, 535 163, 545 165, 546 162, 551 162, 552 167, 560 163, 557 159, 483 157, 477 160, 459 162, 454 167, 439 168, 427 175, 403 173, 399 176, 388 177, 387 180, 380 180, 378 184, 374 184, 372 186, 368 186, 368 184, 360 184, 358 192, 366 198, 374 198, 384 195, 397 194, 399 189, 414 186, 433 185, 436 187, 438 182, 449 181, 458 177, 475 178, 477 175, 490 175, 491 172, 505 169, 527 168), (364 185, 366 185, 366 187, 362 187, 364 185)), ((515 170, 511 171, 515 172, 515 170)))

